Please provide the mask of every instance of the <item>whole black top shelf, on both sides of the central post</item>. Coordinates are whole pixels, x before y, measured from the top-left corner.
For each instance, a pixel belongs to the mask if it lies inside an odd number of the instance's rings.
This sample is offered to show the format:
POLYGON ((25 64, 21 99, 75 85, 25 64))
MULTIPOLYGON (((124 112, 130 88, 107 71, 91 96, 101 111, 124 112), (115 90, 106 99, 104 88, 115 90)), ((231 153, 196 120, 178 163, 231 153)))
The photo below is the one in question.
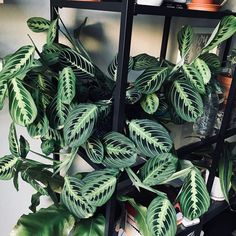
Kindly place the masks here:
MULTIPOLYGON (((51 0, 54 7, 60 8, 78 8, 87 10, 121 12, 122 2, 106 1, 106 2, 87 2, 78 0, 51 0)), ((206 19, 220 19, 226 15, 236 15, 231 11, 208 12, 187 9, 173 9, 167 7, 155 7, 135 4, 134 14, 143 15, 159 15, 159 16, 178 16, 189 18, 206 18, 206 19)))

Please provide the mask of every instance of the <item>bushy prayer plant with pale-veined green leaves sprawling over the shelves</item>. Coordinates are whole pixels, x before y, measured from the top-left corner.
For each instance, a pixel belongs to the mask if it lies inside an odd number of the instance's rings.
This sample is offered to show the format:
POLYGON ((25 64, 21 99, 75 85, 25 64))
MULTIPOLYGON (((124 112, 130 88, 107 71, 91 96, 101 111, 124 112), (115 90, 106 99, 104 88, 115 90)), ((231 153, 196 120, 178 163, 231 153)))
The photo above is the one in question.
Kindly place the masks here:
MULTIPOLYGON (((73 235, 104 235, 103 205, 124 172, 138 190, 156 195, 138 222, 143 235, 175 235, 173 202, 157 188, 174 179, 184 179, 176 198, 184 216, 194 219, 203 215, 210 206, 204 180, 193 165, 181 167, 183 163, 162 121, 168 117, 175 123, 194 122, 201 116, 202 97, 212 80, 211 68, 219 66, 218 58, 208 52, 235 33, 236 18, 223 18, 190 64, 185 63, 193 39, 189 26, 178 34, 182 60, 177 65, 147 54, 130 57, 130 70, 144 72, 127 87, 123 134, 111 128, 117 57, 109 66, 108 77, 80 41, 71 37, 60 16, 51 22, 33 17, 27 23, 32 31, 47 33, 42 52, 34 44, 23 46, 4 58, 0 72, 0 106, 8 94, 12 118, 8 136, 11 154, 0 159, 0 178, 13 179, 18 190, 21 174, 36 190, 30 207, 33 213, 23 215, 12 234, 49 236, 72 231, 73 235), (57 30, 72 47, 54 42, 57 30), (50 164, 30 159, 33 151, 24 137, 17 136, 17 125, 41 141, 43 154, 39 155, 50 164), (70 175, 68 169, 78 152, 100 169, 70 175), (60 160, 50 154, 60 155, 60 160), (142 166, 134 171, 132 167, 140 163, 142 166), (61 171, 65 175, 60 175, 61 171), (54 204, 37 211, 42 195, 50 196, 54 204)), ((119 199, 138 206, 127 195, 119 199)))

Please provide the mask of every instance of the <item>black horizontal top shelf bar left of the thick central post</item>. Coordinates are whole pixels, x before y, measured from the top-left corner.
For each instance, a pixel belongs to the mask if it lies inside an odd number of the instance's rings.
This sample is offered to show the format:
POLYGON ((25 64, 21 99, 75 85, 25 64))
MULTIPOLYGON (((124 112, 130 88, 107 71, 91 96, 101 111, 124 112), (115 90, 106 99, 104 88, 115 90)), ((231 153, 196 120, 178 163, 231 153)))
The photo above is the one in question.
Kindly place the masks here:
POLYGON ((97 11, 121 12, 121 2, 86 2, 71 0, 51 0, 53 7, 76 8, 97 11))

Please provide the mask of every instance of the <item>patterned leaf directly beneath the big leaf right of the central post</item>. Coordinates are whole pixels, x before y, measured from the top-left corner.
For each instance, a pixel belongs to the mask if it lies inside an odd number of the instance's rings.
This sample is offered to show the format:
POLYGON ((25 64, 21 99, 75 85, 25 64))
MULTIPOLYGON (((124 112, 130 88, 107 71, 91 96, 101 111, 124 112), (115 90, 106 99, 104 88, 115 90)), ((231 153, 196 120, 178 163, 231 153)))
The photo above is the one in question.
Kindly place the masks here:
POLYGON ((142 182, 148 186, 161 184, 175 173, 177 161, 172 153, 163 153, 151 158, 140 169, 142 182))

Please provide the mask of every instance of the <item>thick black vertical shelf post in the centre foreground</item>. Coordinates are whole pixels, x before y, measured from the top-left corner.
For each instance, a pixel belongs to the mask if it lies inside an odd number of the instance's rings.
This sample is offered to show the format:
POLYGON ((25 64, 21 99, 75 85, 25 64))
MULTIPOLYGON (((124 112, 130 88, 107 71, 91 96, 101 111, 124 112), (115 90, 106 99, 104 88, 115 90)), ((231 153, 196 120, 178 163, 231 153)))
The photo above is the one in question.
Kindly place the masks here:
MULTIPOLYGON (((125 123, 125 95, 128 79, 130 45, 135 0, 123 0, 120 22, 118 69, 114 92, 113 131, 123 133, 125 123)), ((116 191, 106 205, 105 236, 115 236, 116 191)))

